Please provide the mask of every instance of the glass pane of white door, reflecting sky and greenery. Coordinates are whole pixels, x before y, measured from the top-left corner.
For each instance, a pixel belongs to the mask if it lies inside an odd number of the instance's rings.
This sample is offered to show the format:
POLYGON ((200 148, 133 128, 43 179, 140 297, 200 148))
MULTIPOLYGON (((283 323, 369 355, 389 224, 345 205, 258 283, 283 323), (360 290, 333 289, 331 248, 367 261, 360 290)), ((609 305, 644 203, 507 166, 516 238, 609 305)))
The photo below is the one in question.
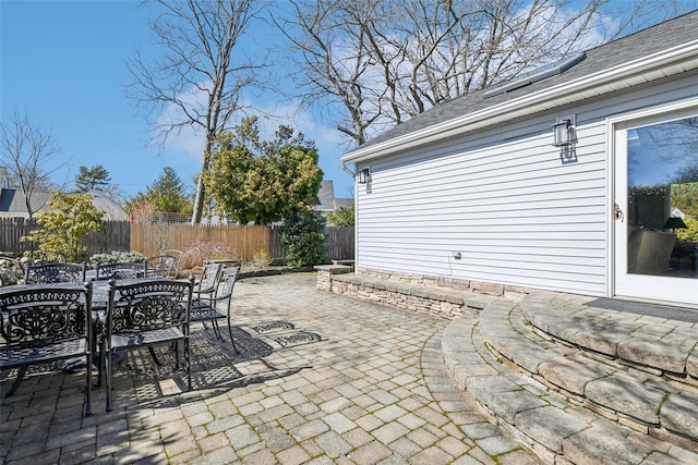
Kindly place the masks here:
POLYGON ((698 278, 698 118, 628 131, 628 273, 698 278))

